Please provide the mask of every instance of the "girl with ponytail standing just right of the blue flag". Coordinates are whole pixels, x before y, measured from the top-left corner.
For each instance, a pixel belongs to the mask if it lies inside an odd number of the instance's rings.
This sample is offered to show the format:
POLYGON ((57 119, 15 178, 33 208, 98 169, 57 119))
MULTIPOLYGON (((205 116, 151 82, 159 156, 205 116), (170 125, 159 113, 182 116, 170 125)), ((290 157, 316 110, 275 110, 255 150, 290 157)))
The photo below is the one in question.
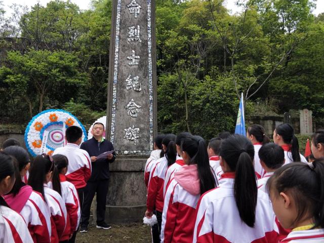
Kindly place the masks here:
POLYGON ((252 125, 247 130, 247 138, 254 146, 254 170, 258 179, 264 176, 264 170, 260 164, 259 149, 262 145, 270 142, 270 139, 265 133, 265 130, 260 125, 252 125))

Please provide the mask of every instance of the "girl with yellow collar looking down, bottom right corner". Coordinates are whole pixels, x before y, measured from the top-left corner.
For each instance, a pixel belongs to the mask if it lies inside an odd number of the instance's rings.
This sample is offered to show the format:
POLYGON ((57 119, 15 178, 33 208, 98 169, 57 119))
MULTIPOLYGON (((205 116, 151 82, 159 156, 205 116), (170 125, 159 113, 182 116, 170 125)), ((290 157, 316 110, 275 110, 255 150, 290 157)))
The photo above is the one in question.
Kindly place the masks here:
POLYGON ((324 160, 291 163, 267 182, 279 222, 292 229, 282 243, 324 242, 324 160))

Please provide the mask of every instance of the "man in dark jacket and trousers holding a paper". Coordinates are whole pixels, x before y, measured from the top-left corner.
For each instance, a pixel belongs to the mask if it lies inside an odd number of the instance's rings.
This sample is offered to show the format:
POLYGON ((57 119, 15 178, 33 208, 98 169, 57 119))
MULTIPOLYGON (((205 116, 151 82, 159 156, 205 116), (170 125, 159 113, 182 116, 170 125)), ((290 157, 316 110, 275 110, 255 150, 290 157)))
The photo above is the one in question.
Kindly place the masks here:
POLYGON ((93 138, 81 144, 80 147, 89 153, 92 165, 91 178, 85 187, 85 201, 81 213, 80 232, 88 232, 90 207, 95 193, 97 193, 97 228, 111 228, 105 223, 105 211, 109 182, 109 163, 115 160, 116 155, 112 152, 99 158, 100 154, 113 150, 112 143, 103 138, 104 125, 102 123, 95 123, 93 125, 92 134, 93 138))

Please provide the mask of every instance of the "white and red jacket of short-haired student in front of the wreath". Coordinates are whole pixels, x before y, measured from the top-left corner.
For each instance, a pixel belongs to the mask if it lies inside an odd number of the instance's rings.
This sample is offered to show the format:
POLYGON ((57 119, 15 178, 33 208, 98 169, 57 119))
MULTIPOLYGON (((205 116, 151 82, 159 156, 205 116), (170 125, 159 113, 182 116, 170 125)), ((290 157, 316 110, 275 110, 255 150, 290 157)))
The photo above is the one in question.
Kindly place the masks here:
POLYGON ((89 153, 80 149, 74 143, 68 143, 64 147, 54 150, 53 155, 62 154, 69 160, 66 179, 71 182, 76 189, 83 188, 91 177, 91 159, 89 153))

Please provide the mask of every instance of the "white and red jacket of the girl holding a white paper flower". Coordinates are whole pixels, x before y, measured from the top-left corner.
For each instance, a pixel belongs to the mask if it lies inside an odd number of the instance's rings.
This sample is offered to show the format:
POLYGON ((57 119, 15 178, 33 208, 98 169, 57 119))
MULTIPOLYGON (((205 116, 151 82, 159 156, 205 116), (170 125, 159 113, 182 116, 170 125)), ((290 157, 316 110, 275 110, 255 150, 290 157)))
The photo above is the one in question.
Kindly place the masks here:
POLYGON ((154 209, 163 211, 163 185, 168 169, 168 160, 164 156, 156 160, 154 169, 151 171, 151 178, 148 184, 146 208, 152 212, 154 209))

